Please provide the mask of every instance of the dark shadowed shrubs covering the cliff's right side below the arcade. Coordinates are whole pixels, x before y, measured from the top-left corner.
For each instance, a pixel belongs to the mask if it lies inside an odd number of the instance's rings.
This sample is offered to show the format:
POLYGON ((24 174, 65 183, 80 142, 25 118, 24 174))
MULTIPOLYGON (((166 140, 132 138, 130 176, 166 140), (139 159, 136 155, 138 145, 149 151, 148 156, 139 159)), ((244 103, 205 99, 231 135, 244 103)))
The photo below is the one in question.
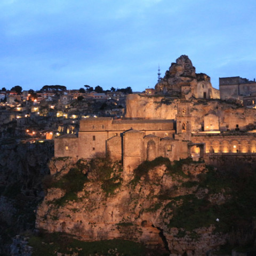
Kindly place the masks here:
POLYGON ((230 234, 231 245, 250 244, 255 239, 256 219, 253 163, 227 162, 218 169, 209 169, 198 175, 195 193, 169 198, 171 202, 162 212, 166 225, 190 232, 213 225, 215 231, 230 234), (207 192, 198 198, 197 193, 202 190, 207 192))

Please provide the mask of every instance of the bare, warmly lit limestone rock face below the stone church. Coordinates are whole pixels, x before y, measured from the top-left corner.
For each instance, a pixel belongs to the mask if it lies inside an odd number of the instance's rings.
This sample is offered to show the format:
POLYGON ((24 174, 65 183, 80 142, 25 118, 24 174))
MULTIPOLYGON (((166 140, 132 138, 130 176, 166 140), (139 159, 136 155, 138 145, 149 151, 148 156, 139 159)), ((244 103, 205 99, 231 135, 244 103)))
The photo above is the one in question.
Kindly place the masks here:
MULTIPOLYGON (((54 168, 64 165, 60 164, 60 159, 58 165, 50 164, 54 168)), ((76 200, 67 199, 61 205, 56 204, 58 198, 63 197, 63 190, 48 189, 37 209, 36 227, 49 232, 65 232, 83 241, 128 239, 146 244, 161 253, 190 255, 193 252, 193 255, 205 255, 207 250, 226 242, 224 235, 212 232, 214 226, 194 230, 197 238, 193 239, 190 233, 180 237, 183 231, 169 225, 173 211, 170 198, 195 191, 195 187, 182 187, 181 182, 189 179, 196 181, 199 173, 207 172, 203 163, 183 165, 182 170, 190 178, 175 177, 164 164, 135 180, 124 181, 121 174, 115 181, 121 182, 121 186, 111 194, 106 194, 102 182, 94 180, 95 174, 89 171, 89 180, 78 192, 76 200), (166 198, 159 199, 162 197, 166 198)), ((65 170, 57 170, 60 175, 61 172, 65 170)), ((113 175, 111 177, 115 177, 113 175)), ((204 196, 207 193, 204 191, 204 196)))

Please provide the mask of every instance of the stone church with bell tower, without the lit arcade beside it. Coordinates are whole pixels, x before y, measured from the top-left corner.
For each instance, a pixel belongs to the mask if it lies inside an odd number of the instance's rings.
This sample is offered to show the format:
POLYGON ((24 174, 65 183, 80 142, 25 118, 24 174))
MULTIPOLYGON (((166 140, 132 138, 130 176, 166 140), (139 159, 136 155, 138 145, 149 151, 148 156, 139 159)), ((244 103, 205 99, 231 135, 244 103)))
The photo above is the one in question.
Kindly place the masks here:
MULTIPOLYGON (((55 157, 77 159, 109 156, 113 161, 122 161, 126 171, 134 170, 143 161, 151 161, 158 156, 171 161, 187 158, 191 143, 188 104, 178 106, 176 119, 84 118, 80 122, 78 137, 67 134, 55 139, 54 154, 55 157)), ((202 143, 193 143, 196 147, 204 147, 202 143)))

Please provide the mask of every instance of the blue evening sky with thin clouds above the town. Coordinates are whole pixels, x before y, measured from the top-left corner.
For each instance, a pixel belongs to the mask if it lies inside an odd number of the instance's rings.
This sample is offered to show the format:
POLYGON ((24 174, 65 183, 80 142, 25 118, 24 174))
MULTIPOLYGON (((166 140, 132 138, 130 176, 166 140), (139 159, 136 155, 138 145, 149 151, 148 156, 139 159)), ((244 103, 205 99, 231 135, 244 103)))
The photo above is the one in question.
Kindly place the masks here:
POLYGON ((1 0, 0 88, 154 87, 188 55, 196 73, 256 77, 255 0, 1 0))

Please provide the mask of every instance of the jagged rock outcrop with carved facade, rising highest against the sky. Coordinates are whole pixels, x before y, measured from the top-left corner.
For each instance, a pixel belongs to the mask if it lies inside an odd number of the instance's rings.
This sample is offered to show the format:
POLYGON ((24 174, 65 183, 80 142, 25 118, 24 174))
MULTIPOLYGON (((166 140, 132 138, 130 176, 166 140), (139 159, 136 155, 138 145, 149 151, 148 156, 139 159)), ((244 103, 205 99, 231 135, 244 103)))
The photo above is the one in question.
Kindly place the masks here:
POLYGON ((219 91, 212 87, 209 76, 196 74, 196 69, 187 55, 181 55, 171 64, 165 76, 156 84, 155 92, 186 99, 220 97, 219 91))

